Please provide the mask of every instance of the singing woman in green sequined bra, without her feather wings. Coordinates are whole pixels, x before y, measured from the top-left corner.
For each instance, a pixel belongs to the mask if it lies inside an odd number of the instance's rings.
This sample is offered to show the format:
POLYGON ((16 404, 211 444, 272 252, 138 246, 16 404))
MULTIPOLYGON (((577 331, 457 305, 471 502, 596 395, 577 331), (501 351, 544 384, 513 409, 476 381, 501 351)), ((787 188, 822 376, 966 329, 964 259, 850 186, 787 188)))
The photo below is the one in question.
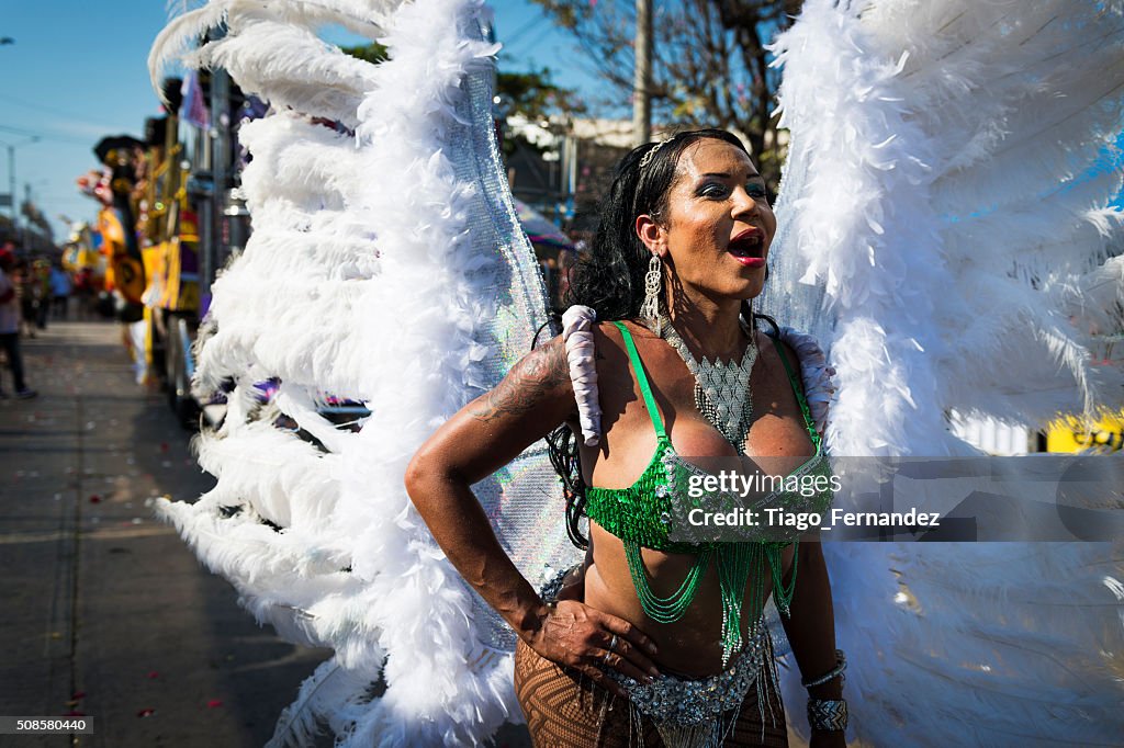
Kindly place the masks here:
MULTIPOLYGON (((571 520, 590 519, 583 575, 564 599, 544 601, 519 575, 470 491, 560 425, 579 430, 561 338, 410 465, 407 489, 434 537, 519 637, 516 688, 536 745, 787 745, 762 622, 770 593, 810 686, 813 745, 843 745, 818 544, 700 545, 669 532, 667 510, 685 495, 676 475, 699 473, 678 455, 777 458, 764 472, 783 476, 825 469, 796 356, 745 313, 776 227, 761 177, 726 133, 683 133, 620 164, 572 291, 604 320, 593 341, 605 422, 600 444, 580 447, 580 473, 564 476, 571 520), (732 363, 723 372, 715 359, 732 363)), ((799 503, 783 491, 758 500, 799 503)))

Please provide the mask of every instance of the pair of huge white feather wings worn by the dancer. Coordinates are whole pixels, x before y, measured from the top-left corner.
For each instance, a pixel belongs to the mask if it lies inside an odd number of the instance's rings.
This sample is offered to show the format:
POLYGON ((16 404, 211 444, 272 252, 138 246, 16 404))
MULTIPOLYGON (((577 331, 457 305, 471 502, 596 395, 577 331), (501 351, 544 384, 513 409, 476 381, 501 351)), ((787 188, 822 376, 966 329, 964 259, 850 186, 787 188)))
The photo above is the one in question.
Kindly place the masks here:
MULTIPOLYGON (((187 62, 272 104, 239 131, 254 230, 200 350, 200 387, 237 385, 199 441, 218 484, 160 511, 260 620, 335 650, 275 745, 318 719, 347 746, 475 745, 518 720, 511 635, 402 487, 426 436, 545 321, 492 142, 484 19, 479 0, 211 0, 153 51, 156 77, 225 22, 187 62), (327 22, 390 60, 324 44, 327 22), (269 377, 281 391, 259 408, 269 377), (373 414, 336 430, 316 412, 326 394, 373 414)), ((946 409, 1039 420, 1118 400, 1120 372, 1086 352, 1124 272, 1105 262, 1120 173, 1089 172, 1120 131, 1121 29, 1117 1, 808 0, 780 39, 791 146, 764 303, 831 344, 835 454, 968 454, 946 409)), ((541 445, 477 489, 533 583, 573 557, 541 445)), ((828 548, 864 742, 1124 733, 1118 547, 828 548)))

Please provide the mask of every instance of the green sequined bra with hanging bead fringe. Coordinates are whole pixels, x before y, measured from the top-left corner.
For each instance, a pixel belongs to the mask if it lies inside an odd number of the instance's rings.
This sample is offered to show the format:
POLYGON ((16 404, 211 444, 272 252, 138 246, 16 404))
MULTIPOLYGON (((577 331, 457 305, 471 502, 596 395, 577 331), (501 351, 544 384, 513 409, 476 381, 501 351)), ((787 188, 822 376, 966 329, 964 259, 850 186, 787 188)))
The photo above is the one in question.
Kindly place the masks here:
POLYGON ((780 483, 778 489, 763 496, 745 499, 722 492, 701 492, 701 495, 692 496, 691 494, 700 492, 698 490, 689 492, 688 486, 700 486, 701 481, 710 474, 676 453, 652 396, 644 364, 636 352, 632 334, 620 322, 614 325, 624 337, 636 383, 640 385, 644 405, 655 428, 656 448, 647 467, 627 489, 589 486, 586 490, 586 514, 620 538, 641 605, 649 618, 660 623, 672 623, 683 617, 698 592, 707 568, 711 562, 715 564, 722 592, 722 646, 725 665, 741 649, 744 641, 741 614, 751 578, 756 583, 751 590, 750 610, 759 611, 764 606, 762 594, 764 585, 761 582, 764 580, 767 565, 772 576, 777 608, 782 614, 788 614, 792 592, 796 589, 796 556, 794 556, 791 578, 788 585, 785 585, 781 554, 788 546, 797 544, 798 532, 772 527, 762 519, 759 524, 737 528, 736 541, 695 541, 691 540, 692 528, 685 518, 696 508, 707 512, 747 509, 758 518, 765 517, 763 510, 770 508, 780 508, 786 512, 822 512, 832 501, 831 463, 823 450, 819 434, 812 420, 799 381, 789 367, 785 354, 781 353, 777 338, 770 336, 792 384, 815 454, 792 473, 778 480, 777 483, 780 483), (804 486, 804 490, 794 486, 804 486), (813 490, 808 490, 809 486, 813 490), (641 548, 691 554, 696 558, 682 584, 664 596, 656 594, 649 583, 641 548))

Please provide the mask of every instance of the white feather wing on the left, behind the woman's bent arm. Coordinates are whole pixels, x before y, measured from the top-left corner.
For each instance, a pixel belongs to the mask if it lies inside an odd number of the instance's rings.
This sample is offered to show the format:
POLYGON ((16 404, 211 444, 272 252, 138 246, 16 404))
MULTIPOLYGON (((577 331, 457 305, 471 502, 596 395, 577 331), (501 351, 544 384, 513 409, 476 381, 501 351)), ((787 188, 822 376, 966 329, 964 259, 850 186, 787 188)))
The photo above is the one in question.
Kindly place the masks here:
MULTIPOLYGON (((212 0, 152 53, 158 71, 221 21, 187 62, 226 69, 272 106, 239 130, 253 232, 214 284, 199 352, 201 389, 236 385, 223 428, 199 443, 218 484, 160 507, 260 620, 335 649, 272 745, 306 742, 317 720, 339 745, 477 745, 518 719, 510 631, 402 485, 420 443, 546 320, 493 139, 487 20, 477 0, 212 0), (378 37, 390 60, 343 55, 317 38, 326 22, 378 37), (269 378, 280 392, 262 407, 254 385, 269 378), (371 418, 335 429, 317 412, 328 394, 371 418), (281 414, 316 444, 278 428, 281 414)), ((533 582, 573 555, 542 445, 475 489, 533 582)))

